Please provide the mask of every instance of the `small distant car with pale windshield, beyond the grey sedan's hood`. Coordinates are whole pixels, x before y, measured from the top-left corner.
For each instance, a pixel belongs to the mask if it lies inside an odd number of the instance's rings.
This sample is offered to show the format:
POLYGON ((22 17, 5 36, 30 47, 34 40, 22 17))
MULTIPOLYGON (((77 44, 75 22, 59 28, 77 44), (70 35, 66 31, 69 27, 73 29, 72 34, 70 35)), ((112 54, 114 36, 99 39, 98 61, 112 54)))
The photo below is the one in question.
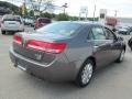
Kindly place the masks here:
POLYGON ((118 33, 123 35, 130 35, 132 29, 130 26, 119 26, 118 33))

